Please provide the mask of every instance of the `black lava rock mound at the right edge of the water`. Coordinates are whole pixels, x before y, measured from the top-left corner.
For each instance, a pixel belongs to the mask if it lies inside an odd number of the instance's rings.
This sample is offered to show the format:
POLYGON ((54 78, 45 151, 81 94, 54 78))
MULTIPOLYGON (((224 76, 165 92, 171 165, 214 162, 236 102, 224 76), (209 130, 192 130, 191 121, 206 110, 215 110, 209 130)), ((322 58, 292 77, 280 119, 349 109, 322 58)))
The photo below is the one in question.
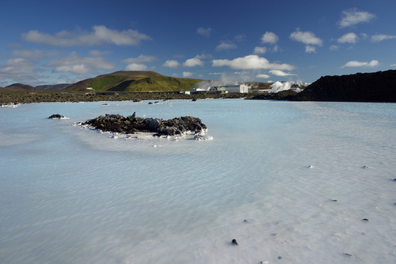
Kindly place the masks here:
POLYGON ((320 77, 292 100, 396 102, 396 70, 320 77))

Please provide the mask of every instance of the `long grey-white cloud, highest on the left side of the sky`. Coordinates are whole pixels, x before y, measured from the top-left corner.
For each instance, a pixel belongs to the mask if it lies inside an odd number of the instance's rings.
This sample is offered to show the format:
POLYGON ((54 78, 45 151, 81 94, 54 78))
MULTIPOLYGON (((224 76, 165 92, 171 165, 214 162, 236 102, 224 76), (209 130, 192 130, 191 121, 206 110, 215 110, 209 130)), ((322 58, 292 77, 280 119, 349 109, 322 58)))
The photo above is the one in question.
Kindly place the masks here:
POLYGON ((26 42, 41 43, 51 46, 94 46, 101 44, 115 44, 117 46, 139 45, 143 40, 151 40, 150 36, 140 33, 137 30, 116 30, 106 26, 93 26, 93 32, 76 30, 70 32, 62 30, 54 35, 30 30, 21 35, 26 42))

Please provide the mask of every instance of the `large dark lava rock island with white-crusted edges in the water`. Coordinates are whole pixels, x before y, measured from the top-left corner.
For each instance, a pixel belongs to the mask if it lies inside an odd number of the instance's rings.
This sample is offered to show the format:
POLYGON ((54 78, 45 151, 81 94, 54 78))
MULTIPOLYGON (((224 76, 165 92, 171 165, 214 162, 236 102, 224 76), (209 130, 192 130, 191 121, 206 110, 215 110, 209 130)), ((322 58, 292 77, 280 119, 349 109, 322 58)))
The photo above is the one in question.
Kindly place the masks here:
POLYGON ((121 116, 119 114, 106 114, 90 119, 82 125, 88 125, 95 129, 113 133, 135 134, 138 132, 156 133, 154 136, 176 136, 185 133, 203 133, 206 125, 199 118, 182 116, 169 120, 158 118, 140 118, 135 116, 121 116))

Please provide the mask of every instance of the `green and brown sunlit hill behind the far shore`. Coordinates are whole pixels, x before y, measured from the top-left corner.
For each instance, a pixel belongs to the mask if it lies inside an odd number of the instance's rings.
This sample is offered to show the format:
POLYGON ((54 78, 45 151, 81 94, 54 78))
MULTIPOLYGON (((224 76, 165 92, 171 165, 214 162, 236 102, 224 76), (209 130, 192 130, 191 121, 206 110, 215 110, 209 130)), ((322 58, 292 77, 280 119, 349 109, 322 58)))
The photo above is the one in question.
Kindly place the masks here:
POLYGON ((152 71, 113 72, 82 80, 70 85, 64 91, 86 91, 92 87, 96 91, 181 91, 194 87, 200 79, 168 77, 152 71))

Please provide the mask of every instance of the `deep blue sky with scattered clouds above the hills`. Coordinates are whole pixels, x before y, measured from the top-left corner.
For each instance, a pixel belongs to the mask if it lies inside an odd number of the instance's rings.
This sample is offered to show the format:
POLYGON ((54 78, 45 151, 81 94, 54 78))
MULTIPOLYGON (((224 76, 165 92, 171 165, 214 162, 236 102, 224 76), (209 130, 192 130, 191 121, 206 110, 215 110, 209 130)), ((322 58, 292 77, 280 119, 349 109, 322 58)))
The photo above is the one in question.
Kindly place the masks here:
POLYGON ((117 70, 314 82, 396 69, 396 1, 8 1, 0 86, 117 70))

